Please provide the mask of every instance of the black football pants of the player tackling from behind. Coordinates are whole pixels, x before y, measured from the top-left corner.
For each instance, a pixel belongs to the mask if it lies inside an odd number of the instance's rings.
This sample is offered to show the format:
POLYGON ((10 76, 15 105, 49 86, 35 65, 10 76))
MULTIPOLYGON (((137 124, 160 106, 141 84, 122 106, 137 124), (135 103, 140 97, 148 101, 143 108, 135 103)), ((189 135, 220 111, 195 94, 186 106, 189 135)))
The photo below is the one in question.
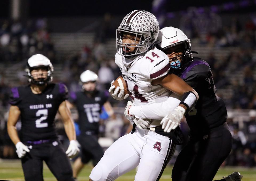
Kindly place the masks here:
POLYGON ((211 129, 208 134, 191 135, 174 164, 173 181, 212 181, 231 146, 227 123, 211 129))

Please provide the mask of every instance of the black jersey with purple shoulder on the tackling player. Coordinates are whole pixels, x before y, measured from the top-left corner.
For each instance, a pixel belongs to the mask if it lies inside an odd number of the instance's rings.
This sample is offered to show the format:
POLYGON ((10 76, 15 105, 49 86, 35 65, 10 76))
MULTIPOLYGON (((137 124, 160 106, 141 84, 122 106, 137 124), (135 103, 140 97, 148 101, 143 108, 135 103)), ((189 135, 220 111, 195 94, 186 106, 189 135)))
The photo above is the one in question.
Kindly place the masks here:
POLYGON ((195 107, 185 115, 191 132, 207 131, 227 119, 224 101, 216 95, 213 74, 209 64, 194 57, 193 62, 178 75, 199 95, 195 107))

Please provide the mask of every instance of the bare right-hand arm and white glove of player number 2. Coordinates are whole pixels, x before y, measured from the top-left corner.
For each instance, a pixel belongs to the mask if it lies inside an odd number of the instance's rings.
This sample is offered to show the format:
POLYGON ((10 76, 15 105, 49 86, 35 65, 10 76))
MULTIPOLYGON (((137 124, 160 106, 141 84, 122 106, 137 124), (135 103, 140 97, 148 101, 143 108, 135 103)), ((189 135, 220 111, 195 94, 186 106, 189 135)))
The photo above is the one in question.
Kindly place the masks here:
POLYGON ((65 132, 70 141, 66 154, 69 158, 73 158, 79 153, 79 148, 76 142, 74 122, 71 118, 71 112, 69 107, 67 106, 66 100, 59 105, 59 114, 62 117, 65 132))

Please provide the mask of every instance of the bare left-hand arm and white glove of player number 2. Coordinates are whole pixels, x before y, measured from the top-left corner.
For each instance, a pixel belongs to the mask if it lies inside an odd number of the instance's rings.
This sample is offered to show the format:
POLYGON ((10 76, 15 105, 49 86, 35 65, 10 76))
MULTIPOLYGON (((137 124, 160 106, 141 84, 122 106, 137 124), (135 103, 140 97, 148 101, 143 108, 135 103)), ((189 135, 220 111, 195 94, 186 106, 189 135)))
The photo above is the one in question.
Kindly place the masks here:
POLYGON ((21 111, 19 110, 18 106, 10 107, 9 117, 8 117, 8 121, 7 121, 7 131, 8 131, 8 134, 9 134, 11 140, 15 144, 18 157, 22 158, 23 156, 26 155, 26 152, 30 152, 30 150, 26 145, 24 145, 20 141, 16 127, 15 127, 16 123, 19 120, 20 114, 21 114, 21 111))

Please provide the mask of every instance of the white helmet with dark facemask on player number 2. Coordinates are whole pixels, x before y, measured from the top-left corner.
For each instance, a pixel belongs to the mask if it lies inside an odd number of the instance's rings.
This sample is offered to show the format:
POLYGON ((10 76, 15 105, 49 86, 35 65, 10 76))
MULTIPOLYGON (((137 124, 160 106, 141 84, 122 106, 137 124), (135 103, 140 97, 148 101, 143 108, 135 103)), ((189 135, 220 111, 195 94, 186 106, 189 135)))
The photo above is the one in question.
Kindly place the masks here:
POLYGON ((25 69, 25 72, 27 73, 25 76, 28 77, 28 81, 30 83, 44 85, 45 83, 51 82, 53 80, 53 65, 51 64, 50 60, 42 54, 32 55, 27 60, 27 68, 25 69), (36 81, 31 75, 31 71, 39 67, 46 67, 48 69, 47 78, 36 81))

